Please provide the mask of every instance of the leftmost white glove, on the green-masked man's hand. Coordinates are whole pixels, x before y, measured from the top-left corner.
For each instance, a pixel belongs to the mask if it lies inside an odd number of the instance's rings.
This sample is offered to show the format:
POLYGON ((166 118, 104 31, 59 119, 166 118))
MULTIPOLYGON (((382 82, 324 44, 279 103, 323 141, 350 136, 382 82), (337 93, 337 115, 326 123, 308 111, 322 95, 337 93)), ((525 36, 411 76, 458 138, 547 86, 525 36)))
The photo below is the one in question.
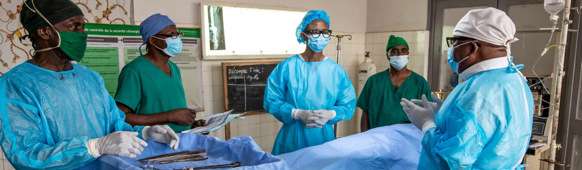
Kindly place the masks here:
POLYGON ((141 146, 147 146, 144 140, 137 138, 138 134, 127 131, 113 132, 101 138, 91 139, 85 143, 85 146, 87 146, 89 154, 95 158, 103 154, 136 158, 144 150, 141 146))

